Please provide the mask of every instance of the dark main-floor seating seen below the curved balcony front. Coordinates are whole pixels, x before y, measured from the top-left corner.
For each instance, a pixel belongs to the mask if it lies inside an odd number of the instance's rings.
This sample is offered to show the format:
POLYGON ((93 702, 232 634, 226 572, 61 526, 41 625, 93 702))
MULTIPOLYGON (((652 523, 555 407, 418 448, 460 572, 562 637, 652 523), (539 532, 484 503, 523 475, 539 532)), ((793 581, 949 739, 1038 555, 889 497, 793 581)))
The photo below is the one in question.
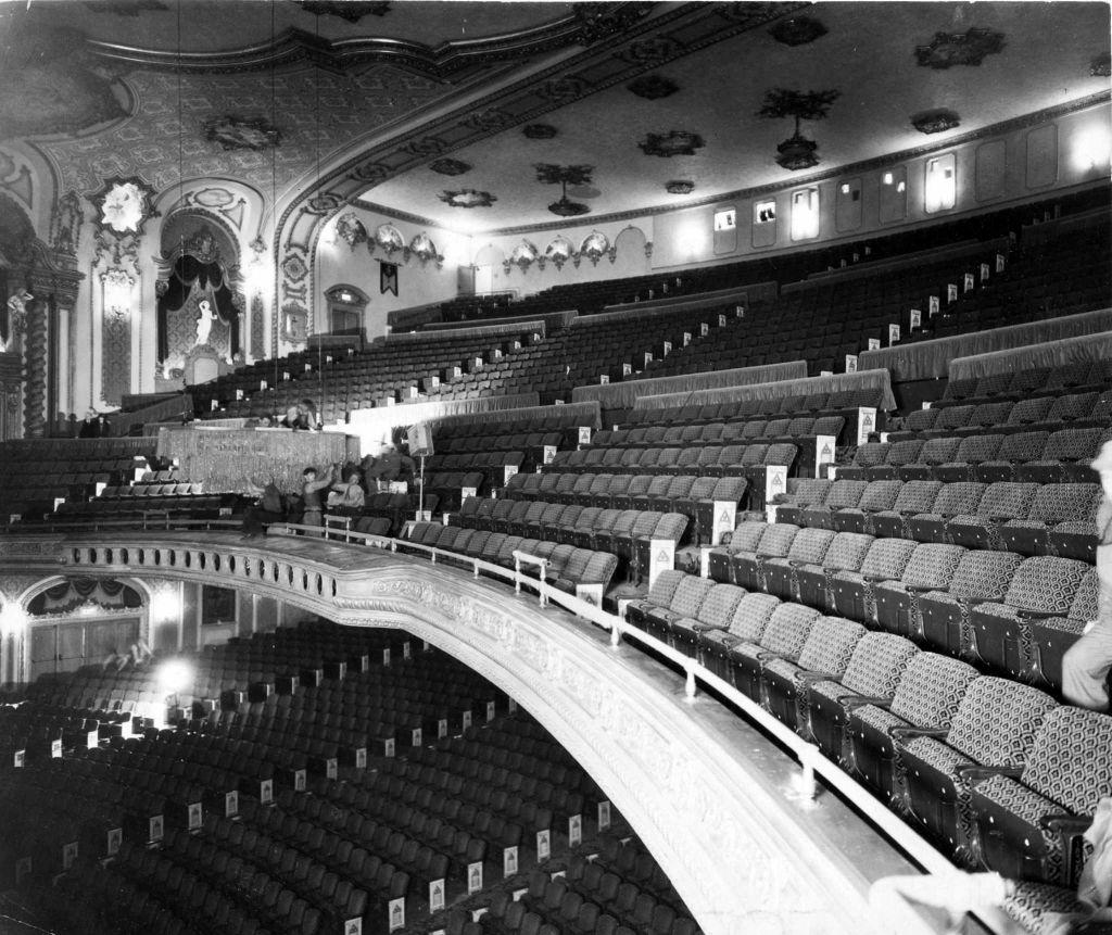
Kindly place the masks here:
POLYGON ((40 679, 0 707, 0 877, 40 927, 431 932, 459 905, 558 925, 563 901, 534 895, 559 872, 595 894, 576 931, 697 933, 552 736, 406 634, 318 621, 189 662, 167 727, 153 669, 40 679))

